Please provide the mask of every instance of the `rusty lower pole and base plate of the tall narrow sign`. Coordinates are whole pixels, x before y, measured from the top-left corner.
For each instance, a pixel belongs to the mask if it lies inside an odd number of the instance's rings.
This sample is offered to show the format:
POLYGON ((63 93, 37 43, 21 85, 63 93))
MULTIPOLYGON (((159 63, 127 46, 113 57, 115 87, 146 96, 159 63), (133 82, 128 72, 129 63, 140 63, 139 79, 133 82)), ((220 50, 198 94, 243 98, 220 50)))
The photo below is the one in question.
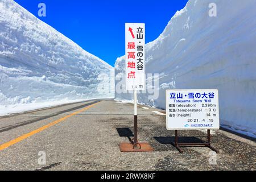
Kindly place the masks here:
POLYGON ((138 142, 138 116, 134 115, 134 138, 131 142, 119 144, 121 152, 151 152, 154 148, 148 142, 138 142))

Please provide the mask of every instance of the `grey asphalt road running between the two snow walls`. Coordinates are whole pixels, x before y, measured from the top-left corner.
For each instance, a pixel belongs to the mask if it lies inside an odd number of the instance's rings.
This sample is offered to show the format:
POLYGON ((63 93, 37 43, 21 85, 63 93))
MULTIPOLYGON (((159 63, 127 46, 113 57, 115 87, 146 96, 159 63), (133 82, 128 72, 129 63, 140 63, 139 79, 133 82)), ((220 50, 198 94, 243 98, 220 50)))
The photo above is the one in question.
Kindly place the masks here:
MULTIPOLYGON (((154 152, 123 153, 133 138, 133 105, 87 101, 0 118, 0 170, 255 170, 255 142, 226 131, 212 134, 216 156, 206 147, 180 154, 166 130, 163 110, 138 108, 139 140, 154 152), (46 164, 44 162, 46 156, 46 164), (210 162, 209 162, 210 159, 210 162)), ((181 141, 206 140, 205 131, 180 131, 181 141)))

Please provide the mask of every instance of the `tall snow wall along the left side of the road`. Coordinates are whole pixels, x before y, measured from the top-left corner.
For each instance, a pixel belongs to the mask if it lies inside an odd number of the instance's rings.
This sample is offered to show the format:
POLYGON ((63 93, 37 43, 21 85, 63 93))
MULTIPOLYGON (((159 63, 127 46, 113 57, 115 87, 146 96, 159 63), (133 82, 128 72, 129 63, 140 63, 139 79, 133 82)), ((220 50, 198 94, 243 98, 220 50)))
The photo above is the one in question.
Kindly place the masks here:
POLYGON ((12 0, 1 0, 0 12, 0 115, 114 97, 98 79, 114 71, 109 64, 12 0))

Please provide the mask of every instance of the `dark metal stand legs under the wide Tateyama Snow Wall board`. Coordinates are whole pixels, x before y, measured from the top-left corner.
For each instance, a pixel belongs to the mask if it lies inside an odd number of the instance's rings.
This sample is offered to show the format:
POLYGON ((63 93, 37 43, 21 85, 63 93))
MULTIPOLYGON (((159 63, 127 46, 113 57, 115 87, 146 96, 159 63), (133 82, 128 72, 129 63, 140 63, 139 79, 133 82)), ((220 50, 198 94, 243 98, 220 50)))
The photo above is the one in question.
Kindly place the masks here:
POLYGON ((175 130, 175 142, 172 142, 172 144, 174 144, 174 146, 177 148, 177 150, 180 153, 183 153, 183 150, 180 148, 180 146, 184 146, 184 147, 188 147, 188 146, 205 146, 205 147, 208 147, 211 150, 215 151, 216 153, 218 153, 218 150, 210 145, 210 130, 207 130, 207 139, 208 139, 207 142, 203 142, 203 143, 179 143, 178 142, 177 130, 175 130))

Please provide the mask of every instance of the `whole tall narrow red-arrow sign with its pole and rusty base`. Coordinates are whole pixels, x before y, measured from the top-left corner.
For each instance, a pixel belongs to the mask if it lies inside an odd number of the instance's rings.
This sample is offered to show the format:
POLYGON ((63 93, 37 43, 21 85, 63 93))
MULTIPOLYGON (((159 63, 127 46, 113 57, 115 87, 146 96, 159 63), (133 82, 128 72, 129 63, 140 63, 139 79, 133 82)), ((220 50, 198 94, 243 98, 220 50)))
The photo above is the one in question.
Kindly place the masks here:
POLYGON ((145 24, 125 24, 126 90, 134 90, 134 139, 120 143, 122 152, 153 151, 146 142, 138 142, 137 90, 146 89, 145 79, 145 24))

